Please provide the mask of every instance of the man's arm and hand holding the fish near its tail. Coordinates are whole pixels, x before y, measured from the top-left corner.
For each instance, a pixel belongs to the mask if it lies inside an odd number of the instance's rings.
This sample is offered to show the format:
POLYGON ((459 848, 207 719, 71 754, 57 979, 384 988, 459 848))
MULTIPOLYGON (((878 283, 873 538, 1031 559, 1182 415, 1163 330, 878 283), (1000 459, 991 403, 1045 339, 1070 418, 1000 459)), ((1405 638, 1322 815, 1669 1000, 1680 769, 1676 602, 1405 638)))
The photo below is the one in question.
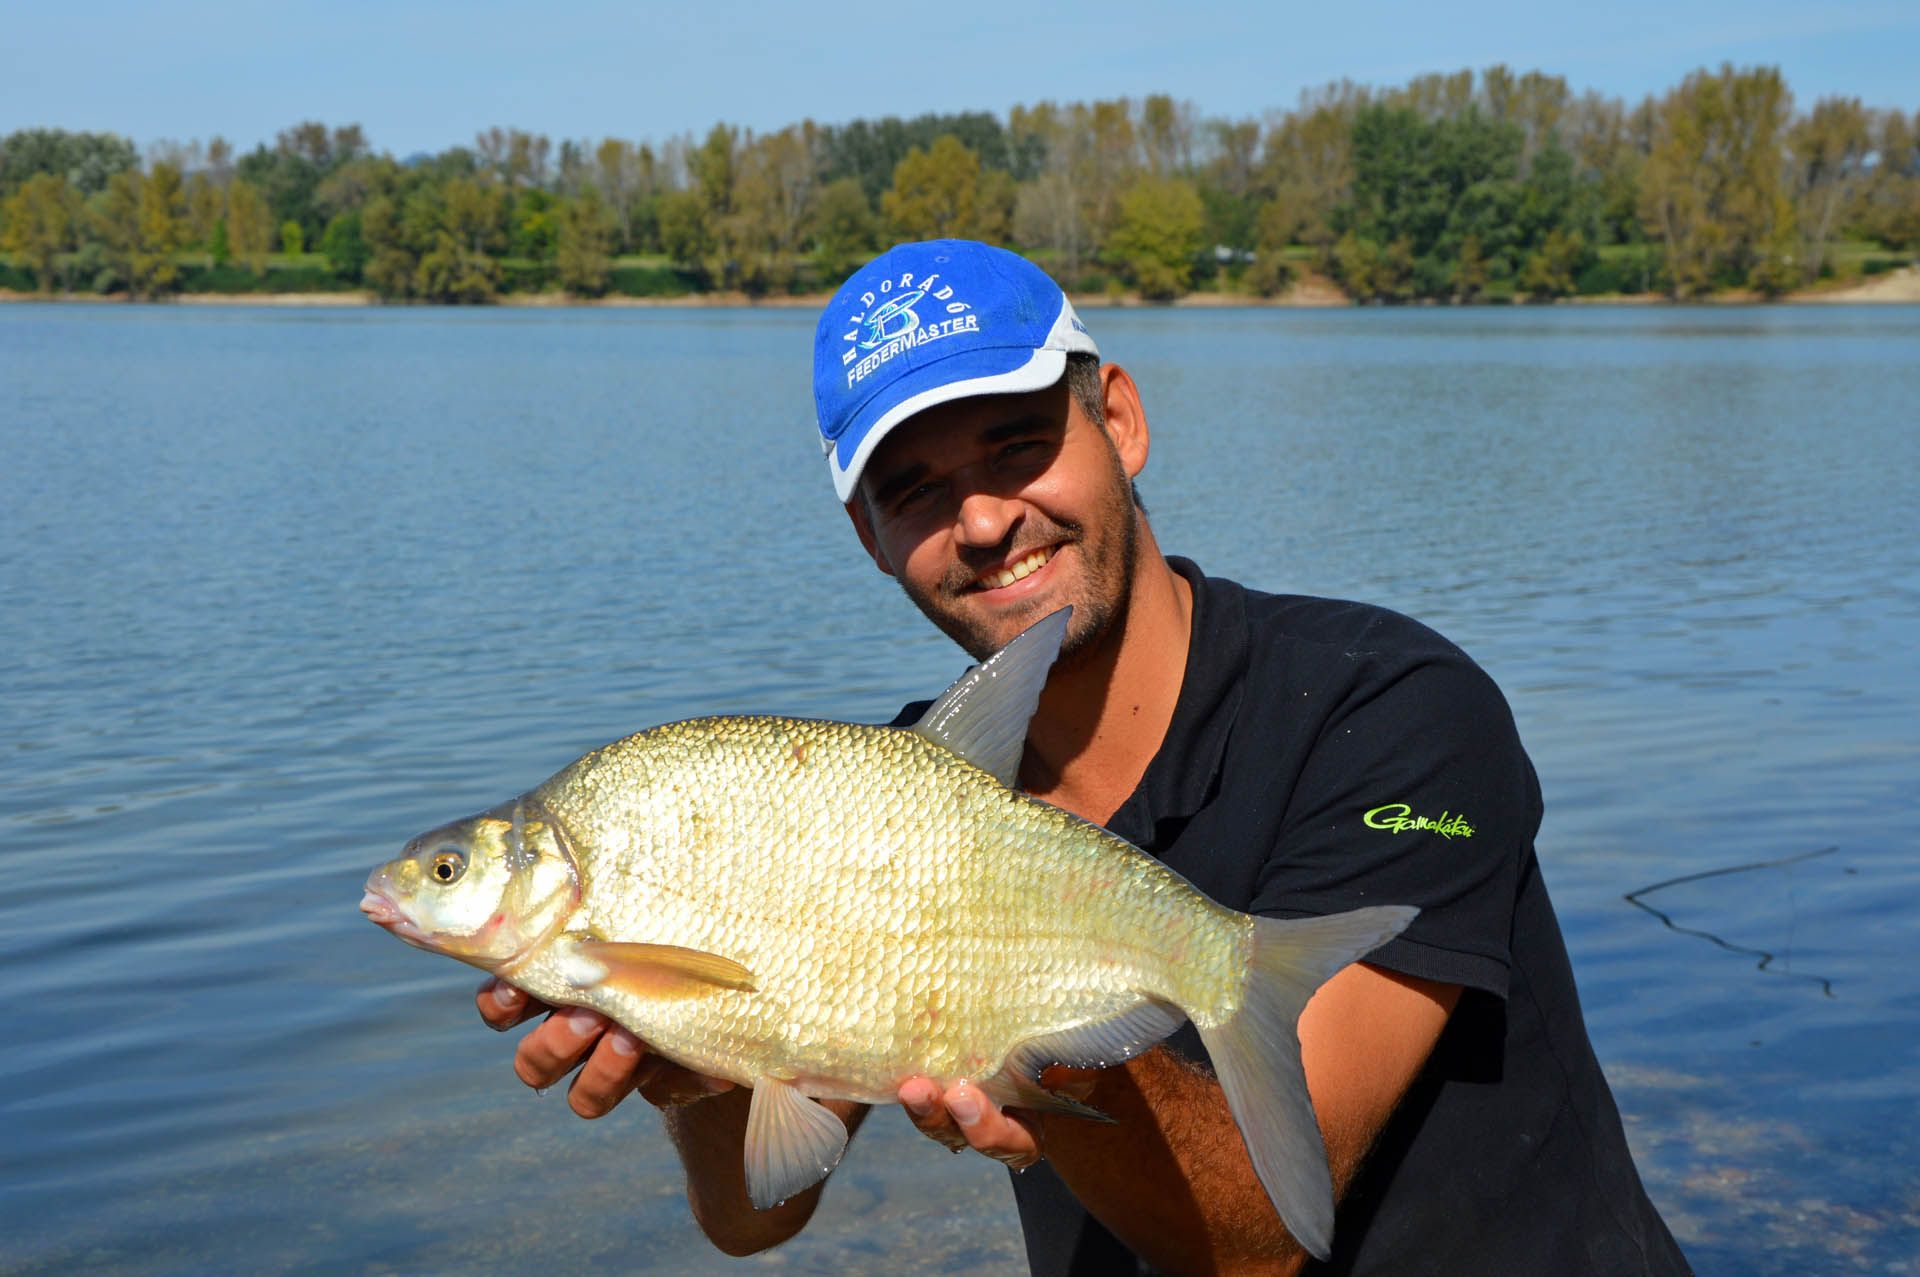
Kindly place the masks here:
MULTIPOLYGON (((1308 1002, 1300 1052, 1336 1196, 1354 1181, 1457 1000, 1459 985, 1359 962, 1308 1002)), ((1162 1048, 1081 1077, 1092 1083, 1087 1102, 1114 1125, 1002 1112, 970 1085, 948 1089, 945 1104, 933 1102, 925 1079, 900 1095, 914 1123, 941 1143, 966 1139, 1010 1166, 1044 1154, 1073 1196, 1156 1267, 1298 1271, 1308 1256, 1254 1177, 1217 1081, 1162 1048)))

